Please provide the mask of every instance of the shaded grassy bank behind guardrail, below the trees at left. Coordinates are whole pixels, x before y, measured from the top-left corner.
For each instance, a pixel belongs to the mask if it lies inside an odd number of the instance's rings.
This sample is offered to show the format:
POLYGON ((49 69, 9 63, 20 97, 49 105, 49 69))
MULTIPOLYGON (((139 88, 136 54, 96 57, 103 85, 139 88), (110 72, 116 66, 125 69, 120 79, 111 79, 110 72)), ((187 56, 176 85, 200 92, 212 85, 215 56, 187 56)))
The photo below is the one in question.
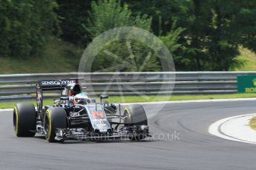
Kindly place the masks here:
POLYGON ((65 41, 50 40, 42 56, 0 58, 0 74, 77 72, 82 50, 65 41))

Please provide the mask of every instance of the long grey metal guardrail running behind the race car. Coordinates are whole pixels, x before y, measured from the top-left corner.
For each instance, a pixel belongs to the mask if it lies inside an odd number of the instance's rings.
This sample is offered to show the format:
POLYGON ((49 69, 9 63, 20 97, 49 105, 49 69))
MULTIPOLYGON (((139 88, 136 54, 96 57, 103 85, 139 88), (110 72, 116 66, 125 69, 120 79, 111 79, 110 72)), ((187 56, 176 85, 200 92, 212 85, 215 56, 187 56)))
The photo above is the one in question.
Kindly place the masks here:
MULTIPOLYGON (((237 75, 256 72, 68 72, 0 75, 0 102, 35 98, 39 80, 82 77, 89 95, 191 95, 237 92, 237 75)), ((48 93, 46 98, 58 98, 48 93)))

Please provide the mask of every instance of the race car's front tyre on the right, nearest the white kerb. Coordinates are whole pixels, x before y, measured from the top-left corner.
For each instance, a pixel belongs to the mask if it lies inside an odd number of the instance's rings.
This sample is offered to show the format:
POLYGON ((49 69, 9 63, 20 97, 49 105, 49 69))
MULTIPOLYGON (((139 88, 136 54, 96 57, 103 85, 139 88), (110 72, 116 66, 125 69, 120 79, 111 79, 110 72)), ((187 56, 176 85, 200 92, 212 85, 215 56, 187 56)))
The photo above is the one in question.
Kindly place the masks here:
MULTIPOLYGON (((148 126, 148 118, 145 114, 145 109, 140 104, 132 104, 125 106, 124 110, 124 123, 125 126, 148 126)), ((132 135, 129 137, 130 140, 142 140, 145 138, 145 135, 132 135)))

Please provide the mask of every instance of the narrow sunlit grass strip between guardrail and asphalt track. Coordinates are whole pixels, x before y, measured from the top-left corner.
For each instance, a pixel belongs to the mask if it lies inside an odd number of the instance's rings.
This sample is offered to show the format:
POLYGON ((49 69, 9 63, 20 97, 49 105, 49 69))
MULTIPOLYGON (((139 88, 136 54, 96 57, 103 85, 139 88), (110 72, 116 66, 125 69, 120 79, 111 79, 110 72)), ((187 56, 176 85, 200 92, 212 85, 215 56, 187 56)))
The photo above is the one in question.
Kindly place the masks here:
MULTIPOLYGON (((148 95, 143 96, 110 96, 106 101, 110 103, 138 103, 148 101, 185 101, 185 100, 203 100, 203 99, 226 99, 226 98, 255 98, 256 94, 228 94, 228 95, 148 95)), ((96 98, 99 101, 99 98, 96 98)), ((27 101, 24 103, 33 103, 36 106, 36 101, 27 101)), ((16 102, 0 103, 0 109, 13 108, 16 102)), ((44 105, 53 104, 53 100, 45 100, 44 105)))

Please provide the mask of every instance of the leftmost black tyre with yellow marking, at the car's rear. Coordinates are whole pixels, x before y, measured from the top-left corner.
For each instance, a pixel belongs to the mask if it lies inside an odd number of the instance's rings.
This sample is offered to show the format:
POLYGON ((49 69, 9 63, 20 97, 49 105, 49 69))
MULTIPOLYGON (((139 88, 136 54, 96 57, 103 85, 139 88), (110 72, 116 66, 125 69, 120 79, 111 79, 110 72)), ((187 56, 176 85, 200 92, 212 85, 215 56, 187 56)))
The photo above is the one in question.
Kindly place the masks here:
POLYGON ((36 135, 36 109, 31 103, 18 103, 13 109, 13 128, 17 137, 36 135))

